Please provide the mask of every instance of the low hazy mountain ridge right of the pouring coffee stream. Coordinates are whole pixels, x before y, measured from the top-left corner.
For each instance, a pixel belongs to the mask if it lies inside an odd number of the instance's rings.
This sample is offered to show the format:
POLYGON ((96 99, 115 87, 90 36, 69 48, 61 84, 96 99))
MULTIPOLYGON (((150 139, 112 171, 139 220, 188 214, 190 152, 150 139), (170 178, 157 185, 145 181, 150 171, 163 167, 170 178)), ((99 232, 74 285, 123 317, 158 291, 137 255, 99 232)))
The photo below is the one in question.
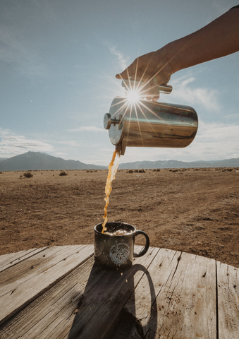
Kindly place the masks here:
POLYGON ((212 160, 212 161, 193 161, 183 162, 177 160, 166 161, 135 161, 126 162, 118 166, 119 169, 140 169, 140 168, 196 168, 196 167, 239 167, 239 159, 212 160))

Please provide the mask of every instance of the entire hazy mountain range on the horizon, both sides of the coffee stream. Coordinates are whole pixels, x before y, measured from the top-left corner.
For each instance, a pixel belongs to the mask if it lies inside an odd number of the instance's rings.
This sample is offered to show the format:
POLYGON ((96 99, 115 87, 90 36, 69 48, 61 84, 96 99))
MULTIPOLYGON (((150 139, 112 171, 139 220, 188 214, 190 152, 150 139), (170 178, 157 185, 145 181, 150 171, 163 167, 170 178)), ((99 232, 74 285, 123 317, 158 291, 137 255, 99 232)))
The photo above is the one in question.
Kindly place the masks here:
MULTIPOLYGON (((239 167, 239 158, 212 161, 183 162, 177 160, 135 161, 118 166, 119 169, 196 168, 196 167, 239 167)), ((0 158, 0 171, 61 170, 61 169, 106 169, 106 166, 85 164, 78 160, 40 152, 27 152, 14 157, 0 158)))

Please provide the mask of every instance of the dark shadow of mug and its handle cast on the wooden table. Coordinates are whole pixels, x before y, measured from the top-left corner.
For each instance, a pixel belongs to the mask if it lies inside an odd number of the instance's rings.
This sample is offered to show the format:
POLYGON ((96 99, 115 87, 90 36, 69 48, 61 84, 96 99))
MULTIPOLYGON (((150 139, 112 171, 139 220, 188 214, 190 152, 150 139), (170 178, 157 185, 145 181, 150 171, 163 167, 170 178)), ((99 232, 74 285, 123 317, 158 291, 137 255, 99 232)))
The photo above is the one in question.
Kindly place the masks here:
POLYGON ((68 339, 141 339, 145 338, 149 326, 151 331, 147 338, 154 339, 157 331, 157 302, 154 284, 145 266, 135 264, 127 270, 113 271, 103 270, 94 263, 68 339), (141 280, 137 278, 140 271, 147 276, 151 295, 149 321, 145 326, 135 316, 135 288, 141 280), (128 299, 130 312, 124 307, 128 299))

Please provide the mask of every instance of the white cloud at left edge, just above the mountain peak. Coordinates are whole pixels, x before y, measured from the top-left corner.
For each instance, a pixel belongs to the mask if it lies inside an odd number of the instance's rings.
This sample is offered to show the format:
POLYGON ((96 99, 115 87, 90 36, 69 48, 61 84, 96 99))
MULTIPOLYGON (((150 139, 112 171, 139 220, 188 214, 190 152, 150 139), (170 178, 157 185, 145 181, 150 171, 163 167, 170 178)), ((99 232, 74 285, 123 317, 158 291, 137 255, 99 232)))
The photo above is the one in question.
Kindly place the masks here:
POLYGON ((28 151, 52 152, 54 148, 49 143, 16 136, 11 131, 0 129, 0 156, 10 157, 28 151))

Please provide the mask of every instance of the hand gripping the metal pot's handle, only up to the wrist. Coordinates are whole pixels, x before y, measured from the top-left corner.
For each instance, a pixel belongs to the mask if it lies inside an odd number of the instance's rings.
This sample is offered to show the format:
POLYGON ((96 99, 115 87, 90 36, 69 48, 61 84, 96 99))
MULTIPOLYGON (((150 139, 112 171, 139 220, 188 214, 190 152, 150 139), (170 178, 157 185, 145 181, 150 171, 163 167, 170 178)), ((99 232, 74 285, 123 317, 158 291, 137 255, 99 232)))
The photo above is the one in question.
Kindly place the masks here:
POLYGON ((116 78, 142 82, 142 95, 147 100, 157 101, 159 100, 158 85, 166 85, 173 74, 170 59, 167 48, 163 47, 156 52, 138 57, 122 73, 116 74, 116 78))

